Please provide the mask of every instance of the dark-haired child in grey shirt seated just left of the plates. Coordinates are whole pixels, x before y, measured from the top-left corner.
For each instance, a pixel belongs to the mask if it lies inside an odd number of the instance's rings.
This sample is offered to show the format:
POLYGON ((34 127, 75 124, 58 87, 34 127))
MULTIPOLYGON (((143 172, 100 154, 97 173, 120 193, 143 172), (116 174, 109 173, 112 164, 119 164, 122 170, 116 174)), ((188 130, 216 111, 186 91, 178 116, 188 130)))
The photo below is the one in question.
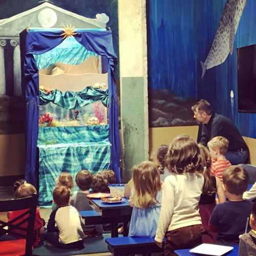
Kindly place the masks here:
MULTIPOLYGON (((80 170, 80 172, 76 174, 76 184, 80 190, 77 192, 77 194, 75 194, 71 198, 70 204, 74 206, 78 211, 92 210, 91 206, 89 205, 89 200, 87 198, 92 180, 93 180, 93 176, 89 172, 89 170, 80 170)), ((102 225, 86 226, 84 224, 84 220, 81 219, 81 226, 86 236, 102 237, 102 232, 103 232, 102 225)))

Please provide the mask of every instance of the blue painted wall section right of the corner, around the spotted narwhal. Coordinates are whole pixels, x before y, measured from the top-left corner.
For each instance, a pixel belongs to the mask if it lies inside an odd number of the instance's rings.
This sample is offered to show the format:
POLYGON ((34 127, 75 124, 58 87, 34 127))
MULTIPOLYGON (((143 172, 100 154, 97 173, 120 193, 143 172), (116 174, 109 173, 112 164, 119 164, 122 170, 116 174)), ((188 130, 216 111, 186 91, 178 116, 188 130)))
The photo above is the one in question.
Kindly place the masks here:
POLYGON ((218 23, 226 0, 197 0, 194 3, 197 13, 198 99, 208 99, 216 112, 234 120, 242 135, 256 138, 256 115, 238 113, 237 90, 237 48, 256 44, 256 2, 254 0, 247 0, 234 40, 233 54, 229 54, 221 65, 207 70, 204 79, 201 79, 202 69, 200 67, 200 60, 204 62, 207 57, 218 29, 218 23), (230 90, 234 92, 233 115, 231 111, 230 90))

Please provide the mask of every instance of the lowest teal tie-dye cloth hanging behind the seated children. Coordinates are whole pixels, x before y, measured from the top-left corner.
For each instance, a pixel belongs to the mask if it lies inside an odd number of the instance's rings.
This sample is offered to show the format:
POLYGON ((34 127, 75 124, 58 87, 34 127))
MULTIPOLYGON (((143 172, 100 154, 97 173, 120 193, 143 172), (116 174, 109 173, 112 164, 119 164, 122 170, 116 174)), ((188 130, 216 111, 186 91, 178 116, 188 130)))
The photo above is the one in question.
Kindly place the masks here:
POLYGON ((61 171, 69 172, 75 180, 81 169, 88 169, 94 174, 110 168, 109 142, 38 145, 38 148, 40 206, 51 205, 52 191, 61 171))

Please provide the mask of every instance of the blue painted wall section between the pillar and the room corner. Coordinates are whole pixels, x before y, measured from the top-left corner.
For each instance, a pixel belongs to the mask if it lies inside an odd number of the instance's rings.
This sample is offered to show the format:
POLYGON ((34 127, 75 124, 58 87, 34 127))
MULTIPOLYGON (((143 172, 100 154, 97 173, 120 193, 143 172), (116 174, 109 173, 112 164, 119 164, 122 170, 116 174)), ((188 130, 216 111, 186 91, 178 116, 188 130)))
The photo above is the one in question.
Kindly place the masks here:
POLYGON ((196 97, 194 2, 147 1, 148 78, 153 90, 196 97))

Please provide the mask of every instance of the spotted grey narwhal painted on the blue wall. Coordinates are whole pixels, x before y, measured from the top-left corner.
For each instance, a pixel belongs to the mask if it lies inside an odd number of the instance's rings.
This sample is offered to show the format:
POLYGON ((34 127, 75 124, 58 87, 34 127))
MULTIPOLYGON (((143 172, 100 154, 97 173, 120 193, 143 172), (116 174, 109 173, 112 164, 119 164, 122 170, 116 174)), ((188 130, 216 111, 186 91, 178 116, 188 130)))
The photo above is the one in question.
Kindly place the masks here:
POLYGON ((201 61, 202 78, 207 69, 220 65, 226 60, 229 52, 232 54, 234 36, 245 5, 246 0, 227 0, 214 42, 205 62, 201 61))

